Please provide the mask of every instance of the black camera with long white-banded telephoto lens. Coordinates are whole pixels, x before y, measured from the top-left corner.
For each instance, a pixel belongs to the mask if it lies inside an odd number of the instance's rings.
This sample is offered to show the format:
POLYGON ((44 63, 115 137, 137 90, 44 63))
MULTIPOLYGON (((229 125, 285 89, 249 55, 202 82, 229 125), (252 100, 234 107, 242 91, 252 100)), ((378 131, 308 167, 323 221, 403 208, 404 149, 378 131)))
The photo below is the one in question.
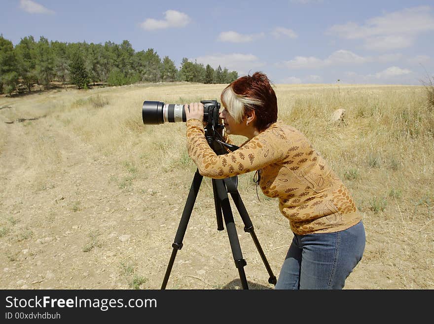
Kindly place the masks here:
MULTIPOLYGON (((202 100, 204 105, 204 122, 217 125, 220 103, 216 100, 202 100)), ((188 105, 187 105, 187 108, 188 105)), ((184 105, 165 104, 160 101, 144 101, 142 119, 146 125, 185 122, 184 105)))

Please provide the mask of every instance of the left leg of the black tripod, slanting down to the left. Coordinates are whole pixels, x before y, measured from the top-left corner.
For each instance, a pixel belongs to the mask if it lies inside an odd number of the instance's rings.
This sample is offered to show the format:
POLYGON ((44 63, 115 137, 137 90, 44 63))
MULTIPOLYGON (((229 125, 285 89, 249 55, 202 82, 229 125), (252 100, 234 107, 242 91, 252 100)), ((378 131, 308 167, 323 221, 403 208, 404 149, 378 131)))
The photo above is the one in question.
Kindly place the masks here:
POLYGON ((193 211, 194 202, 196 201, 197 193, 199 192, 200 184, 202 183, 203 176, 199 174, 199 170, 196 170, 194 174, 193 182, 191 183, 190 191, 188 192, 187 201, 185 202, 184 211, 182 212, 181 221, 178 226, 178 230, 175 236, 175 241, 172 244, 173 251, 170 256, 169 264, 167 265, 166 274, 164 275, 163 284, 161 289, 165 289, 167 282, 169 281, 170 272, 175 261, 178 250, 182 249, 182 240, 187 230, 188 221, 190 220, 191 212, 193 211))

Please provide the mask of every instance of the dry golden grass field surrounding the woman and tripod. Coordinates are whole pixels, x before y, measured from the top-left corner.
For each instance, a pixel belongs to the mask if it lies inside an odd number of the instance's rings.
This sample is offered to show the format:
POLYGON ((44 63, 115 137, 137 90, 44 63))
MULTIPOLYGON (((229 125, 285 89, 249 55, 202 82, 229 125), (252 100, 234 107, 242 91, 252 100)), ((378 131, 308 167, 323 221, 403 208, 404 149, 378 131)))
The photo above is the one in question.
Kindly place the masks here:
MULTIPOLYGON (((0 97, 2 289, 159 289, 196 170, 185 124, 144 125, 144 100, 217 99, 225 85, 142 84, 0 97)), ((279 119, 349 187, 366 249, 346 289, 434 288, 434 109, 419 86, 276 84, 279 119), (336 109, 344 120, 330 122, 336 109)), ((241 143, 243 138, 235 138, 241 143)), ((292 234, 253 173, 239 191, 277 276, 292 234)), ((232 205, 233 206, 233 205, 232 205)), ((268 273, 233 206, 250 288, 268 273)), ((168 289, 240 288, 204 179, 168 289)))

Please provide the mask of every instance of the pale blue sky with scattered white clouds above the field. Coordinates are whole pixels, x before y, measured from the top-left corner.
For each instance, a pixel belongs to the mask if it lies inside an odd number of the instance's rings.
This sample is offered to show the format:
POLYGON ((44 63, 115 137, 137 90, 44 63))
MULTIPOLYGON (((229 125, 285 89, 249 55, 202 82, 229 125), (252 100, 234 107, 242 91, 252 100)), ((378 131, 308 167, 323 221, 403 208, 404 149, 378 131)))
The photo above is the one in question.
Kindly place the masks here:
POLYGON ((5 0, 0 34, 153 48, 274 83, 421 84, 434 0, 5 0))

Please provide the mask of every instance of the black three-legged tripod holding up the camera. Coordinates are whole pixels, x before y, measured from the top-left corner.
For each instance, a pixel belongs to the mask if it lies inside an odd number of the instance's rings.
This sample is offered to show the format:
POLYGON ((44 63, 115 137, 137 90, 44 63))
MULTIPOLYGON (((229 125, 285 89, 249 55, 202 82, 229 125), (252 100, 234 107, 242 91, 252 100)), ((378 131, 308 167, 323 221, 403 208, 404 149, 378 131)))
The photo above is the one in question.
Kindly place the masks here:
MULTIPOLYGON (((213 132, 214 134, 214 132, 213 132)), ((207 136, 207 130, 205 130, 205 137, 207 138, 208 144, 214 149, 214 151, 219 154, 226 153, 225 149, 222 145, 228 147, 231 150, 235 150, 238 147, 235 145, 230 145, 224 143, 220 140, 217 140, 215 136, 207 136)), ((176 254, 178 250, 182 249, 182 239, 184 238, 185 231, 187 229, 188 221, 191 216, 191 212, 193 210, 194 203, 196 201, 197 194, 199 192, 200 185, 202 183, 203 176, 199 174, 199 170, 196 170, 194 174, 193 181, 191 183, 190 191, 187 196, 187 200, 185 202, 184 210, 182 212, 181 221, 178 226, 178 230, 175 236, 175 241, 172 244, 173 251, 170 256, 169 264, 167 265, 166 274, 164 276, 163 284, 161 285, 161 289, 165 289, 167 282, 169 280, 170 272, 172 271, 173 263, 175 261, 176 254)), ((253 242, 258 250, 262 261, 265 265, 265 268, 268 271, 270 278, 268 282, 270 284, 276 285, 276 277, 273 274, 273 271, 268 264, 268 261, 265 257, 264 252, 259 244, 259 241, 254 233, 253 224, 247 213, 246 207, 241 200, 241 196, 237 189, 238 178, 231 177, 226 179, 212 179, 213 183, 213 192, 214 192, 214 203, 216 207, 216 215, 217 215, 217 230, 224 230, 223 226, 223 218, 224 223, 226 225, 227 234, 229 236, 229 243, 232 250, 232 255, 235 261, 235 267, 238 269, 238 273, 241 280, 241 285, 243 289, 249 289, 246 279, 246 273, 244 271, 244 266, 247 264, 246 260, 243 259, 243 254, 241 252, 240 242, 238 240, 237 230, 235 228, 234 217, 232 215, 232 210, 229 202, 228 193, 230 193, 232 200, 240 214, 243 222, 244 222, 244 231, 250 233, 253 239, 253 242)))

